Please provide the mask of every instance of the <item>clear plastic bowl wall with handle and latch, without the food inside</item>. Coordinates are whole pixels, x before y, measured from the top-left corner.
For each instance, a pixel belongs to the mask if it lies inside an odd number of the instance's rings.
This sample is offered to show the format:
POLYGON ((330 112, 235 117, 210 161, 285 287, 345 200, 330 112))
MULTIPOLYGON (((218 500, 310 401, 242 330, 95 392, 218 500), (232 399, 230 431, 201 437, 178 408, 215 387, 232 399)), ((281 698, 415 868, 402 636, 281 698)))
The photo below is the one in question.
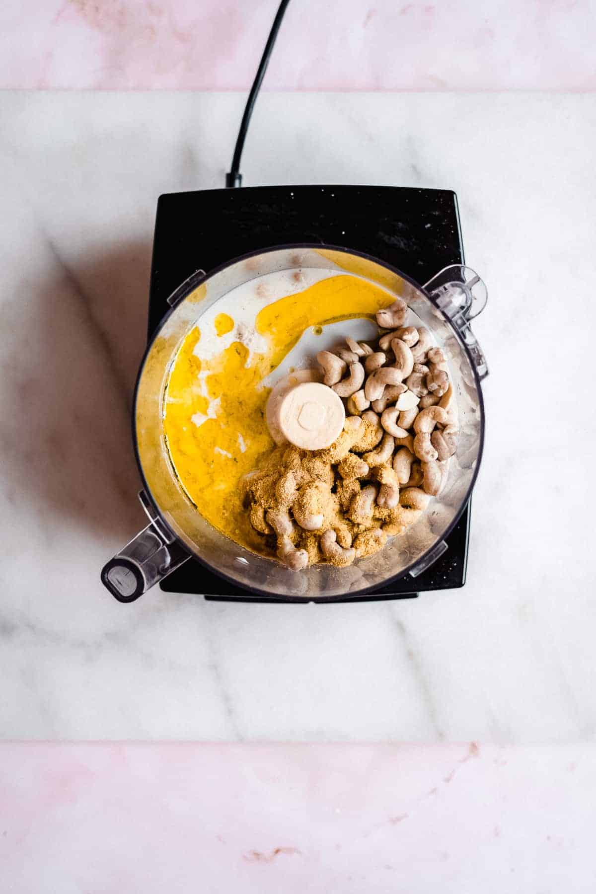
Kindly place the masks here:
POLYGON ((117 599, 138 598, 191 555, 223 578, 246 587, 247 595, 324 596, 328 600, 360 595, 407 574, 416 578, 445 552, 445 538, 466 507, 483 451, 480 383, 487 367, 470 320, 486 304, 486 289, 474 271, 449 266, 419 286, 389 265, 355 251, 292 245, 241 257, 208 276, 197 271, 169 303, 172 310, 147 348, 135 394, 134 440, 144 482, 140 498, 150 524, 102 571, 105 586, 117 599), (164 392, 181 342, 194 325, 200 327, 201 316, 215 301, 258 276, 310 267, 363 277, 407 301, 449 360, 460 434, 441 494, 405 534, 348 568, 315 565, 292 571, 231 541, 189 501, 164 443, 164 392))

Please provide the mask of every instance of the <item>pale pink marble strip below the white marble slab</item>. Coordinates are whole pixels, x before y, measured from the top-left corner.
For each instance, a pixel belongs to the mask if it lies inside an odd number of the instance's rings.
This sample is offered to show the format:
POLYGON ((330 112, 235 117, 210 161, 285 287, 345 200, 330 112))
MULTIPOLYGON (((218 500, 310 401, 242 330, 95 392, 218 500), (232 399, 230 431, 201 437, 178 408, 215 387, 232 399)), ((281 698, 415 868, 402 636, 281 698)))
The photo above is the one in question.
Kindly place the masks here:
POLYGON ((4 744, 11 894, 594 890, 596 747, 4 744))

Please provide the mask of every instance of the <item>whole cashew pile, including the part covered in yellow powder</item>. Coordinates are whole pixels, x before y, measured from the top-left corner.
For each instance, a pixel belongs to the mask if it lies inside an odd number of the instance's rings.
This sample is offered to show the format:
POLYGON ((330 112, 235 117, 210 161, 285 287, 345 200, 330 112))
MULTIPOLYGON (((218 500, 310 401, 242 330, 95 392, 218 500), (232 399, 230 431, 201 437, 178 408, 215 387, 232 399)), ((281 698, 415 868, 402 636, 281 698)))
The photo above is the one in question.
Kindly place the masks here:
POLYGON ((252 527, 290 569, 378 552, 441 491, 457 447, 453 388, 431 333, 406 317, 396 299, 376 314, 375 347, 347 338, 316 355, 347 411, 331 447, 281 445, 244 479, 252 527))

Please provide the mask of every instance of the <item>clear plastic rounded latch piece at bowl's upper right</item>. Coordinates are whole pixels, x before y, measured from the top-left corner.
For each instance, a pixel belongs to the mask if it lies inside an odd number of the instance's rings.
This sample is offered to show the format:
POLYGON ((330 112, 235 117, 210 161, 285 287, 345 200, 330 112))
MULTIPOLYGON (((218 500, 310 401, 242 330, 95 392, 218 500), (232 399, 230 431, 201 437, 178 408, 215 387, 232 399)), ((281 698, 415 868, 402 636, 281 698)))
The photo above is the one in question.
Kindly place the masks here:
POLYGON ((482 313, 486 307, 488 292, 483 280, 471 267, 451 264, 443 267, 428 283, 424 283, 424 289, 437 307, 449 316, 466 342, 478 377, 485 378, 489 375, 489 367, 470 325, 470 320, 482 313))

